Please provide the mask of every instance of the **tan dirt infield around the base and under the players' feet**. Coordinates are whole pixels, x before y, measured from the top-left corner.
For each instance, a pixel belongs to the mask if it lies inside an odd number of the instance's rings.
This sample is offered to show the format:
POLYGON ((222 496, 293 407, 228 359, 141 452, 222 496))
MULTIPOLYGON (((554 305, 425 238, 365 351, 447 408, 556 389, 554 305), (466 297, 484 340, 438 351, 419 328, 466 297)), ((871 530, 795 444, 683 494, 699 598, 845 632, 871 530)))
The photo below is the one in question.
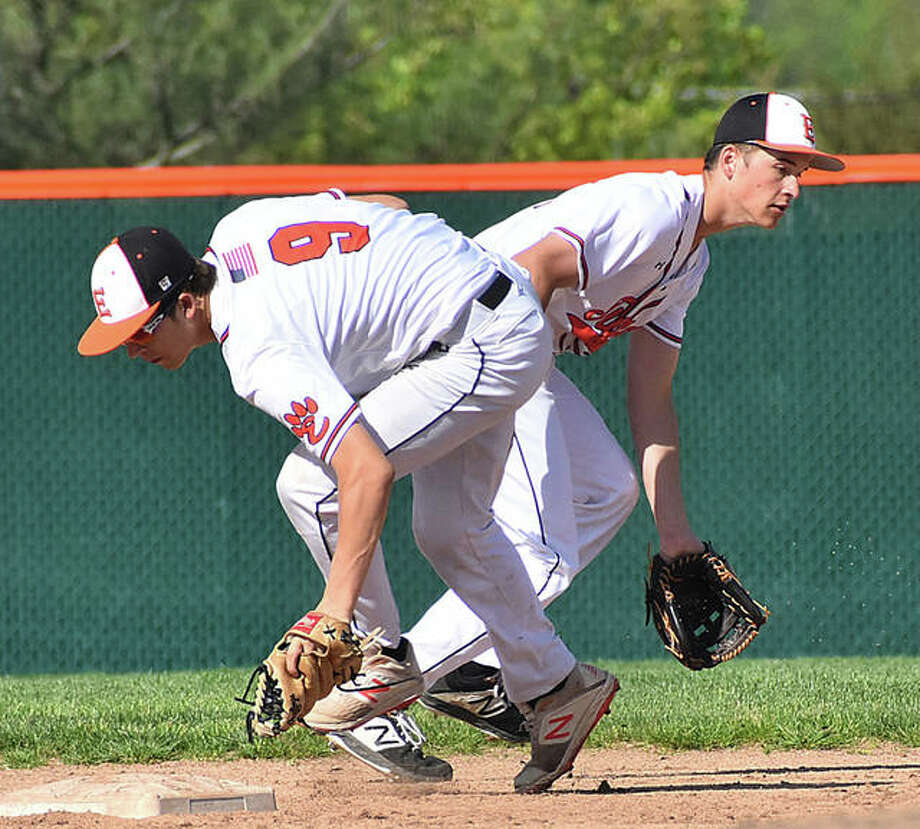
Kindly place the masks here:
POLYGON ((920 827, 920 749, 662 753, 586 750, 572 775, 543 795, 510 792, 517 749, 451 758, 454 780, 396 783, 347 755, 300 762, 247 760, 153 766, 65 766, 0 771, 0 795, 69 777, 126 769, 271 786, 277 811, 176 815, 141 821, 53 812, 0 826, 168 829, 310 827, 920 827))

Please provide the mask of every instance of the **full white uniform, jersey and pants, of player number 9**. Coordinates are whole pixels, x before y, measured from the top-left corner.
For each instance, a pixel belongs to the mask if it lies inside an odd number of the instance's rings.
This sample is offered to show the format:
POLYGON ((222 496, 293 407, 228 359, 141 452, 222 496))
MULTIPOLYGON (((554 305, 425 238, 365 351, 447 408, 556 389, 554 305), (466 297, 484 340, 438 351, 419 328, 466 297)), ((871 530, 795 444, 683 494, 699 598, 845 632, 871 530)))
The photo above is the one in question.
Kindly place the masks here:
MULTIPOLYGON (((413 476, 419 549, 489 630, 509 694, 555 687, 575 657, 490 511, 514 410, 552 361, 527 273, 437 216, 334 193, 244 205, 205 258, 218 269, 211 327, 234 390, 300 438, 276 489, 323 575, 342 518, 331 465, 361 418, 396 477, 413 476), (444 347, 429 348, 436 340, 444 347)), ((379 543, 354 623, 399 642, 379 543)), ((365 691, 356 681, 334 694, 365 691)))

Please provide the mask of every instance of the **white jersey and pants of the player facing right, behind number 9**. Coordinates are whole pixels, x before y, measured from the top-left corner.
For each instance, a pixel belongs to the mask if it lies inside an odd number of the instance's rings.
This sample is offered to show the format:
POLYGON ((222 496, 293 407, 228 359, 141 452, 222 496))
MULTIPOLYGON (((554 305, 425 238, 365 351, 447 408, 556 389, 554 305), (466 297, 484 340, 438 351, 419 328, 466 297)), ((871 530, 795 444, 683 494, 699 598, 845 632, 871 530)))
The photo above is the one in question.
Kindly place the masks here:
MULTIPOLYGON (((578 286, 555 291, 546 310, 557 352, 589 354, 639 327, 679 348, 709 265, 705 243, 692 249, 702 208, 701 176, 629 173, 527 207, 476 240, 509 257, 550 233, 575 248, 578 286)), ((558 369, 517 410, 514 430, 492 510, 548 604, 626 521, 638 482, 604 419, 558 369)), ((498 665, 485 626, 450 591, 407 636, 428 686, 470 659, 498 665)))

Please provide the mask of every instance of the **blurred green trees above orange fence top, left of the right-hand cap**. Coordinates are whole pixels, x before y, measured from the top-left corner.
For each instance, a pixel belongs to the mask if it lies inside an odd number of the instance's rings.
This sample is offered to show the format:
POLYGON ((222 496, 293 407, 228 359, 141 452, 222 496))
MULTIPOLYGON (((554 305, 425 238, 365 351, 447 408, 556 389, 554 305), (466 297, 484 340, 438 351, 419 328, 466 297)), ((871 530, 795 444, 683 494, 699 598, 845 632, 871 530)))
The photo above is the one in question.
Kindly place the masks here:
POLYGON ((6 0, 0 165, 699 154, 744 0, 6 0))

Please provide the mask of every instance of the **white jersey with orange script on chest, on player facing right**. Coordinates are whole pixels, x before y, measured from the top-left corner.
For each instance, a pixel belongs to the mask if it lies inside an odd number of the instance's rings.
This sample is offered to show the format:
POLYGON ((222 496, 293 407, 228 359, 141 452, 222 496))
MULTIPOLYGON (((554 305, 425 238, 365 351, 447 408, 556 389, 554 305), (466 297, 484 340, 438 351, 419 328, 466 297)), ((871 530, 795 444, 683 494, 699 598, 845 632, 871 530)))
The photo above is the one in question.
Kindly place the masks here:
POLYGON ((557 352, 593 353, 639 327, 679 348, 709 266, 705 242, 693 249, 702 209, 702 176, 627 173, 527 207, 476 240, 508 257, 550 233, 575 248, 578 287, 555 291, 546 309, 557 352))

